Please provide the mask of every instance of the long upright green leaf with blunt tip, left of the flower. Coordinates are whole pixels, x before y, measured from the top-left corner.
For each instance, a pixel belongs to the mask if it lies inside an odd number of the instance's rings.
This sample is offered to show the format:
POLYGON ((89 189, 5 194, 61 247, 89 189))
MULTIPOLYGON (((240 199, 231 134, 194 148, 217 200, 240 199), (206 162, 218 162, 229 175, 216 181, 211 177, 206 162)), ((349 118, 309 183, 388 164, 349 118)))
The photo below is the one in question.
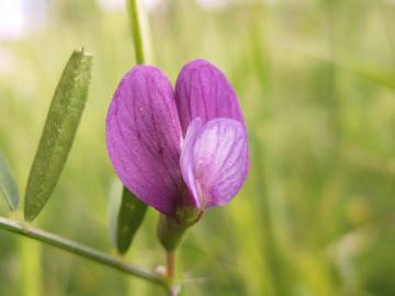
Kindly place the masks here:
POLYGON ((60 177, 87 101, 91 66, 92 56, 75 50, 63 71, 27 180, 26 220, 43 209, 60 177))

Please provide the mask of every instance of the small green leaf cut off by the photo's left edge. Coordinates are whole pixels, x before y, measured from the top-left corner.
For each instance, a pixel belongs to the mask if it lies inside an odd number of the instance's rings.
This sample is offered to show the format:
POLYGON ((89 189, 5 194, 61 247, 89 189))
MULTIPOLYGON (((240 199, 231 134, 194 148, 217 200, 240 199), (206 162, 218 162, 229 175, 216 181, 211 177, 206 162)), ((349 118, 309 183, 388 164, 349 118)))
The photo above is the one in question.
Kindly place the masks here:
POLYGON ((19 205, 19 192, 16 182, 12 177, 11 169, 5 157, 0 151, 0 192, 4 196, 10 210, 15 212, 19 205))

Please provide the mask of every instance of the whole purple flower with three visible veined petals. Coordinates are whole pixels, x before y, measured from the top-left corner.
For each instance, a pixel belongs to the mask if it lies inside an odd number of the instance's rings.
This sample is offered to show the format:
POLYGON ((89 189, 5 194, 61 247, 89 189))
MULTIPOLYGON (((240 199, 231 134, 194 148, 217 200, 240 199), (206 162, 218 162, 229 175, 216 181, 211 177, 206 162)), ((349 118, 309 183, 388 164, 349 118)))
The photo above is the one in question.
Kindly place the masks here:
POLYGON ((115 91, 105 132, 121 181, 165 215, 226 204, 248 173, 235 91, 205 60, 182 68, 176 91, 157 68, 134 67, 115 91))

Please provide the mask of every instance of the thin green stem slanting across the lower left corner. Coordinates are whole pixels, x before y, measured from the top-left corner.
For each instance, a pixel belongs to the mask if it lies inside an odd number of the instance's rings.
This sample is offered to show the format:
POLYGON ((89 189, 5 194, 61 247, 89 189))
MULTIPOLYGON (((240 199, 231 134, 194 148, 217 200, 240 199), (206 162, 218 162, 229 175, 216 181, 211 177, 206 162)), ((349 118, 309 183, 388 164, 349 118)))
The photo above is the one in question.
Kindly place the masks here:
POLYGON ((166 285, 161 278, 159 278, 156 274, 151 272, 145 271, 132 263, 124 262, 122 259, 117 257, 98 251, 93 248, 69 240, 58 235, 47 232, 38 228, 30 227, 25 224, 11 220, 4 217, 0 217, 0 228, 10 232, 14 232, 50 244, 53 247, 83 257, 97 263, 106 265, 109 267, 113 267, 129 275, 134 275, 147 282, 158 284, 161 286, 166 285))

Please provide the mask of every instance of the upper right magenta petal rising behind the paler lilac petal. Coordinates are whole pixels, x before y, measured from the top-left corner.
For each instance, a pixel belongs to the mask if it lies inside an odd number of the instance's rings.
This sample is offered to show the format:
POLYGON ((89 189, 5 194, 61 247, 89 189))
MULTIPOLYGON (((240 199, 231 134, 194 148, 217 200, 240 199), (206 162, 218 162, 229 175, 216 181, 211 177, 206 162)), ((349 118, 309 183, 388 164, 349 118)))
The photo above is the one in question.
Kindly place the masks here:
POLYGON ((245 123, 236 93, 226 77, 203 59, 182 68, 176 83, 176 102, 184 134, 195 117, 201 117, 203 123, 217 117, 245 123))

